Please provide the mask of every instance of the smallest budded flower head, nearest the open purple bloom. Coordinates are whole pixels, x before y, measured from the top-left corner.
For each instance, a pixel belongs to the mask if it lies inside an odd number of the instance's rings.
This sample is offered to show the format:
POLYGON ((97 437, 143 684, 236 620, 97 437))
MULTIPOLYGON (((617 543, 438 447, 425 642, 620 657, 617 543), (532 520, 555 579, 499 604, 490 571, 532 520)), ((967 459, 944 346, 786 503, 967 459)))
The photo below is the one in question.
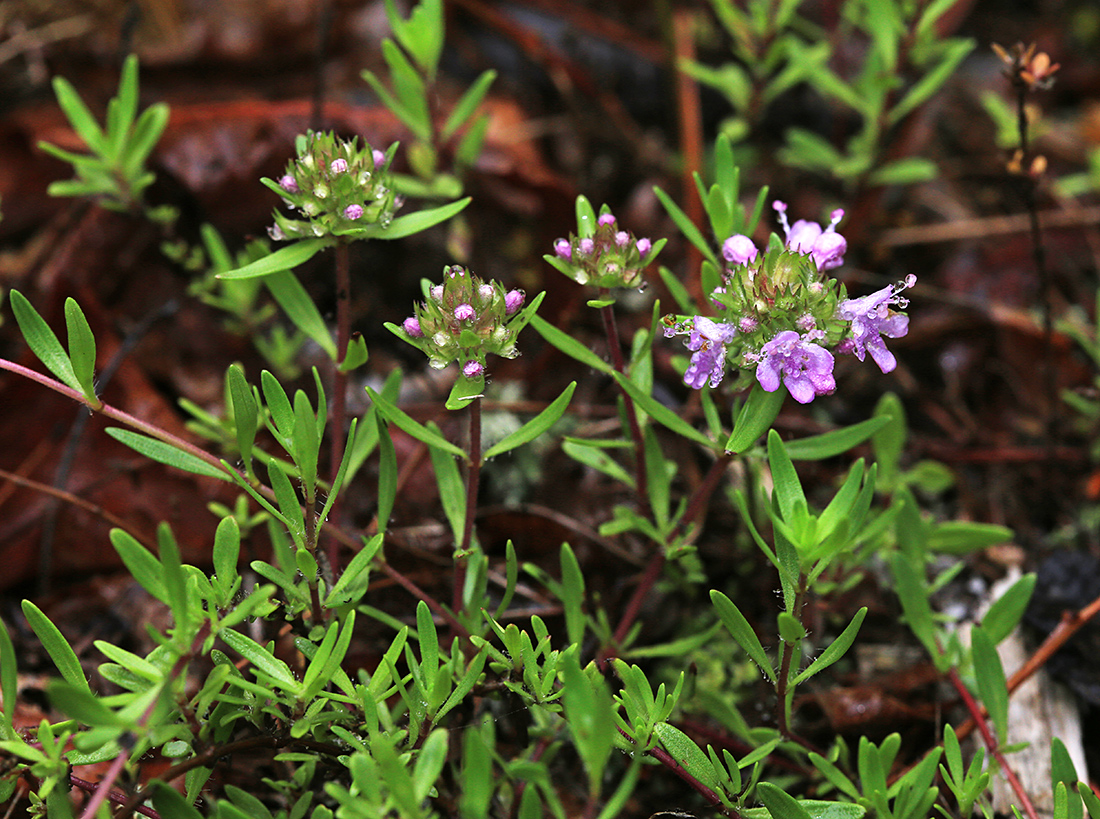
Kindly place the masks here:
POLYGON ((579 285, 607 289, 637 287, 641 283, 641 272, 660 253, 666 240, 654 243, 649 239, 636 239, 619 228, 607 206, 598 219, 591 213, 591 206, 588 211, 592 219, 579 219, 580 235, 571 233, 569 239, 554 242, 554 255, 546 256, 547 262, 579 285), (593 220, 594 225, 591 224, 593 220))

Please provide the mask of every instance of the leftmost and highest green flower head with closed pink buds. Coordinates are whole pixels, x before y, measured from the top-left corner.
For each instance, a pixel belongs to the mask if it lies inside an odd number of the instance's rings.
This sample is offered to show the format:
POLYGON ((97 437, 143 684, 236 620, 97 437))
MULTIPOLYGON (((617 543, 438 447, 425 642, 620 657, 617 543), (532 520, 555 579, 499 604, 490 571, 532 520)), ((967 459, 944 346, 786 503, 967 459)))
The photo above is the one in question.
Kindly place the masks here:
POLYGON ((314 131, 298 137, 298 156, 286 173, 278 181, 263 181, 305 219, 275 211, 272 239, 315 239, 389 224, 397 208, 388 174, 394 150, 386 154, 358 142, 314 131))

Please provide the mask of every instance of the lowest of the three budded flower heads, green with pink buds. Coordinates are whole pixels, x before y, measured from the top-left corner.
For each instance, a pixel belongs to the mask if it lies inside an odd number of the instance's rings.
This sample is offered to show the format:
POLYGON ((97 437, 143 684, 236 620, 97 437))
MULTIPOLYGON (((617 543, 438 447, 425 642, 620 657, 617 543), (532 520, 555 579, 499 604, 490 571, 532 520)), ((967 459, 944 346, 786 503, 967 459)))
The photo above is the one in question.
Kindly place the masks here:
POLYGON ((487 354, 519 355, 516 335, 526 324, 519 311, 524 298, 522 290, 505 290, 497 281, 483 281, 461 265, 452 265, 443 268, 443 284, 428 291, 428 299, 415 306, 413 316, 399 328, 387 327, 427 355, 436 369, 458 361, 466 378, 480 378, 487 354))

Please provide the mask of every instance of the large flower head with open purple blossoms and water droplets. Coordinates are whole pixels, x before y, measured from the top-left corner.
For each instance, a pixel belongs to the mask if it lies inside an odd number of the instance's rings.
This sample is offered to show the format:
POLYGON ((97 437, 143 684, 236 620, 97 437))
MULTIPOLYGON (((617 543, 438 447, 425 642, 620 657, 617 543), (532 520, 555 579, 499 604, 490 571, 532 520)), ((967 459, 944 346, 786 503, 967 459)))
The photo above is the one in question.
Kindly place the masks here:
POLYGON ((905 307, 899 294, 916 277, 870 296, 845 298, 844 286, 826 275, 844 263, 848 247, 836 231, 844 211, 834 211, 825 226, 806 220, 790 225, 787 204, 777 201, 773 207, 784 239, 773 237, 766 253, 740 234, 723 243, 727 265, 711 300, 724 316, 664 317, 666 336, 686 335, 693 353, 684 384, 716 387, 729 361, 743 370, 744 381, 755 373, 765 390, 782 384, 794 400, 807 403, 836 390, 831 350, 859 361, 870 353, 883 373, 891 372, 898 362, 882 336, 899 339, 908 332, 909 317, 893 308, 905 307))

